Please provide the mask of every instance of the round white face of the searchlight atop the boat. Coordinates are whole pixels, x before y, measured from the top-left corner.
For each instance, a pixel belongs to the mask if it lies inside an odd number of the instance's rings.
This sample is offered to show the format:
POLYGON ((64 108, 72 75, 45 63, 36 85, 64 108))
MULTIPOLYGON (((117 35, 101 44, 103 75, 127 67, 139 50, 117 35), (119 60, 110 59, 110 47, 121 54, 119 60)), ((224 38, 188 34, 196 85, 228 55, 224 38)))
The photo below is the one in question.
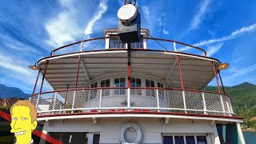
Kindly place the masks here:
POLYGON ((137 7, 132 4, 122 6, 118 10, 118 18, 121 22, 132 22, 137 16, 137 7))

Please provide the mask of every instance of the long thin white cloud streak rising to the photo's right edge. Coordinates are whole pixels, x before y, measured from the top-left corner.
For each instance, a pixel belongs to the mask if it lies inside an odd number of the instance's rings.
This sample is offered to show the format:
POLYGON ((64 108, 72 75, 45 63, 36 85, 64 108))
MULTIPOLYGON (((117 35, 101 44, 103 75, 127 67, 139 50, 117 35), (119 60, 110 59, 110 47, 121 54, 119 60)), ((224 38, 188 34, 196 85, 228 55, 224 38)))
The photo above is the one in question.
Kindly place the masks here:
MULTIPOLYGON (((246 34, 248 32, 252 32, 254 30, 256 30, 256 23, 254 23, 251 26, 245 26, 245 27, 242 27, 239 30, 235 30, 234 32, 232 32, 228 36, 225 36, 225 37, 222 37, 222 38, 214 38, 214 39, 210 39, 210 40, 194 43, 193 46, 204 46, 204 45, 209 45, 209 44, 215 43, 215 42, 225 42, 225 41, 233 39, 233 38, 238 38, 242 34, 246 34)), ((191 49, 190 47, 185 46, 185 47, 182 47, 179 50, 184 51, 184 50, 190 50, 190 49, 191 49)))

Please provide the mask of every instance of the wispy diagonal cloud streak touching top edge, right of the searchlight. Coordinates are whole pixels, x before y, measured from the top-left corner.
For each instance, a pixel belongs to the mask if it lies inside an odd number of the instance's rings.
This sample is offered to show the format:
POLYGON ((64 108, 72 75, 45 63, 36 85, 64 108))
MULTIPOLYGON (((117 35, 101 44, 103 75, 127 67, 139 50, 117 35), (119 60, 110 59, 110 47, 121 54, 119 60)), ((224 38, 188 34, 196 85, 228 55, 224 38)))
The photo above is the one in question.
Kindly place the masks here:
POLYGON ((204 15, 206 14, 206 9, 208 8, 209 3, 210 3, 210 0, 202 1, 202 3, 200 4, 198 13, 194 15, 194 18, 190 23, 189 30, 196 29, 199 26, 199 24, 202 22, 202 18, 204 18, 204 15))

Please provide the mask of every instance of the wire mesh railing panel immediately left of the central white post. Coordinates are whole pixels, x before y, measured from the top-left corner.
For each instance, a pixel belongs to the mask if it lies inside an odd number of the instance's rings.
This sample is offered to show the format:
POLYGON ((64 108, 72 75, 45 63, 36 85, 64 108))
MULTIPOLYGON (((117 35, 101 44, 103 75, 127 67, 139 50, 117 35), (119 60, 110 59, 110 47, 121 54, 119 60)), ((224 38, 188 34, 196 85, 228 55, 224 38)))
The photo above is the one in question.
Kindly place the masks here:
POLYGON ((127 107, 127 89, 102 90, 101 107, 127 107))

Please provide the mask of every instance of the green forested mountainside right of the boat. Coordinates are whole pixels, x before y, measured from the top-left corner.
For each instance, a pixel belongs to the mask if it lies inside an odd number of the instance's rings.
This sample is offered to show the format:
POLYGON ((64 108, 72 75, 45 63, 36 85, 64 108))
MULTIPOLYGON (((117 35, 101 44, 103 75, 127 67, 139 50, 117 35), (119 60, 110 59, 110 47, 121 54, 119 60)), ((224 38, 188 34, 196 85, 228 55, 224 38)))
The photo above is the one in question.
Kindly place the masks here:
MULTIPOLYGON (((218 91, 217 86, 206 86, 206 91, 218 91)), ((244 128, 254 128, 256 122, 250 119, 256 116, 256 86, 243 82, 238 86, 225 86, 225 91, 230 96, 234 113, 244 118, 244 128)))

